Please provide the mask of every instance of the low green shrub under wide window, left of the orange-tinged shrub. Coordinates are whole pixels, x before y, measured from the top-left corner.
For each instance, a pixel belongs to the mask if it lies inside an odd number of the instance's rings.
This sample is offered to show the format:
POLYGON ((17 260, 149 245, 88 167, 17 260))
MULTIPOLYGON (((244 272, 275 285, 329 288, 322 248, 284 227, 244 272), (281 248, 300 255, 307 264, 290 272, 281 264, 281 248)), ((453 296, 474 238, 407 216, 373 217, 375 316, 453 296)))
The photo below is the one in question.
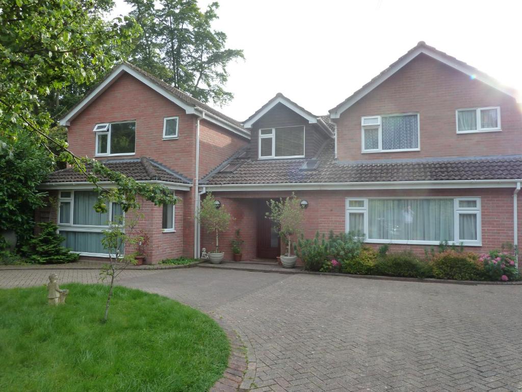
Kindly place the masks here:
POLYGON ((431 268, 429 263, 419 260, 412 252, 404 251, 379 257, 376 272, 388 276, 426 278, 431 275, 431 268))

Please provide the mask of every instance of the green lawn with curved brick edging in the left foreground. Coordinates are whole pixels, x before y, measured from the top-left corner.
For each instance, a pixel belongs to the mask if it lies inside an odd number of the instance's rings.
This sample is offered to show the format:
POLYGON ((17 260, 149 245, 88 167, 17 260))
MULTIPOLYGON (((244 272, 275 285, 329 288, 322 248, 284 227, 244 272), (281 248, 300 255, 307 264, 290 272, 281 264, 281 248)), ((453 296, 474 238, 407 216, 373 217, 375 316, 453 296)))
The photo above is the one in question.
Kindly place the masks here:
POLYGON ((0 290, 0 391, 207 391, 227 367, 229 343, 208 316, 171 299, 115 287, 64 284, 0 290))

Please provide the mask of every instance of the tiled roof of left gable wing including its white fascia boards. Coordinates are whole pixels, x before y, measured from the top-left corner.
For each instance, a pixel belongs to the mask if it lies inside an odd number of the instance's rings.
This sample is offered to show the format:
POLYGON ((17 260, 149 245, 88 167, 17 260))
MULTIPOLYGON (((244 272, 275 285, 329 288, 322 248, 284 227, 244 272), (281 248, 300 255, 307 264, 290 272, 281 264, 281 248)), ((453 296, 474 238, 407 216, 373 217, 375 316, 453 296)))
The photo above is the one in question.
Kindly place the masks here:
POLYGON ((75 107, 73 107, 65 116, 60 120, 60 125, 69 125, 78 114, 80 114, 87 106, 90 105, 96 98, 98 98, 103 91, 108 89, 118 78, 124 73, 127 73, 140 82, 146 84, 163 97, 174 102, 177 106, 180 106, 185 110, 187 114, 196 114, 197 116, 203 116, 205 113, 205 120, 216 123, 223 128, 228 129, 236 134, 250 139, 250 131, 246 130, 241 126, 241 123, 234 120, 231 117, 226 116, 220 111, 208 106, 206 103, 199 101, 198 99, 183 93, 180 89, 177 89, 165 82, 158 79, 156 76, 149 74, 138 68, 137 66, 123 62, 116 65, 113 70, 105 76, 105 78, 93 88, 89 93, 86 94, 75 107))

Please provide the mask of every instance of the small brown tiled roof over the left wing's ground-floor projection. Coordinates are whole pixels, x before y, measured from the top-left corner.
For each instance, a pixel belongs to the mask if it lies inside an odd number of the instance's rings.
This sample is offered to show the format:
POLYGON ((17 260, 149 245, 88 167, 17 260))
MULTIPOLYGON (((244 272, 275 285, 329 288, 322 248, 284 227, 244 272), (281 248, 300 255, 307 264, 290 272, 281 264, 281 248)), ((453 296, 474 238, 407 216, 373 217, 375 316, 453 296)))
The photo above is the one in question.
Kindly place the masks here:
MULTIPOLYGON (((136 181, 164 181, 192 184, 192 181, 185 176, 147 157, 107 159, 103 161, 103 164, 109 169, 118 171, 136 181)), ((87 171, 89 171, 89 168, 87 168, 87 171)), ((104 178, 101 178, 100 180, 106 181, 104 178)), ((45 184, 57 182, 87 182, 87 177, 85 174, 77 172, 69 167, 67 169, 52 172, 42 185, 44 186, 45 184)))

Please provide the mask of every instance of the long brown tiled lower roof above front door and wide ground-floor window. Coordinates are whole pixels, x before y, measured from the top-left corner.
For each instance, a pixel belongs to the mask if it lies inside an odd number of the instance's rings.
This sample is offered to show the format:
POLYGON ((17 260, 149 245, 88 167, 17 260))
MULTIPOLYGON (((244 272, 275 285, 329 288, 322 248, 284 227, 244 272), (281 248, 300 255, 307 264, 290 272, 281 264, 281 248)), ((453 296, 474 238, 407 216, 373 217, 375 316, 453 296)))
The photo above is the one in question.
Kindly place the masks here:
POLYGON ((522 178, 522 155, 381 159, 339 162, 327 140, 313 159, 242 159, 227 162, 200 181, 206 185, 371 183, 394 181, 480 181, 522 178), (312 169, 309 168, 312 167, 312 169))

